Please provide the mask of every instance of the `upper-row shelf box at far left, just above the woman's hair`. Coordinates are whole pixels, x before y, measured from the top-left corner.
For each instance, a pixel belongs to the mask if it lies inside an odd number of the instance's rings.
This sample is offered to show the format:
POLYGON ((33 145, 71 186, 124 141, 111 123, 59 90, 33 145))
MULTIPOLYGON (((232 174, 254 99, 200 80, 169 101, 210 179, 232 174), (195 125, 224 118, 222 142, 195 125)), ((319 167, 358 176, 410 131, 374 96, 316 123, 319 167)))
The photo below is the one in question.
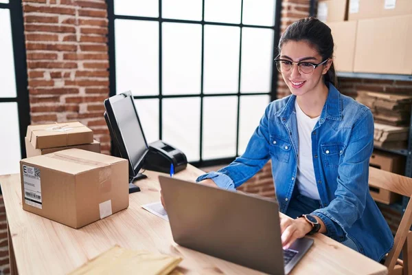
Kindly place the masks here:
POLYGON ((347 0, 319 0, 317 18, 323 22, 347 20, 347 0))

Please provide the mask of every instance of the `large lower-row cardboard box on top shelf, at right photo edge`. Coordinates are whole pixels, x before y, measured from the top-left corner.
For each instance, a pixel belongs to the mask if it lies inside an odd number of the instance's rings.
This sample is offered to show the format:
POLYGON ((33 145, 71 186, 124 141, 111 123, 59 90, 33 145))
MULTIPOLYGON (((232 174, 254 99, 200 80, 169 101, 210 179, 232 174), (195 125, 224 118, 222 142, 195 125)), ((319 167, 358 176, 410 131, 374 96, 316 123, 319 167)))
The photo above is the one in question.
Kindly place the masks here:
POLYGON ((412 74, 412 15, 358 21, 354 72, 412 74))

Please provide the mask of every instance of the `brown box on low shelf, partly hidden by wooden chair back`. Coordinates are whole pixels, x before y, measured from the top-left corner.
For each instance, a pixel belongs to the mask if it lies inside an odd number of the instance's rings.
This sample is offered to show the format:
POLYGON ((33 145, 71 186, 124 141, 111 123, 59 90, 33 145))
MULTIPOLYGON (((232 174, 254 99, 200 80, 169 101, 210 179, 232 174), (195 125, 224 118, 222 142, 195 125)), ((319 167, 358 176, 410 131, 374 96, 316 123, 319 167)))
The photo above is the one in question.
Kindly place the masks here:
MULTIPOLYGON (((391 173, 403 175, 405 158, 402 155, 394 155, 375 150, 371 155, 369 165, 391 173)), ((385 204, 399 201, 402 197, 396 193, 390 192, 389 190, 380 189, 373 184, 369 184, 369 192, 375 201, 385 204)))

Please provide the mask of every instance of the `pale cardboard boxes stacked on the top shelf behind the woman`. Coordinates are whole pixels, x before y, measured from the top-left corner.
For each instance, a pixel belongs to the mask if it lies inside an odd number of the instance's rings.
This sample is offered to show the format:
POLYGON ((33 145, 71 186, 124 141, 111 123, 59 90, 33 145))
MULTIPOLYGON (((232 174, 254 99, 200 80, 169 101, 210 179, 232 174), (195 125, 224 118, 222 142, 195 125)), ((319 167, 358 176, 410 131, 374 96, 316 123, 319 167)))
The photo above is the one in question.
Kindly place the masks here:
POLYGON ((318 18, 332 30, 338 72, 412 74, 411 0, 319 0, 318 18))

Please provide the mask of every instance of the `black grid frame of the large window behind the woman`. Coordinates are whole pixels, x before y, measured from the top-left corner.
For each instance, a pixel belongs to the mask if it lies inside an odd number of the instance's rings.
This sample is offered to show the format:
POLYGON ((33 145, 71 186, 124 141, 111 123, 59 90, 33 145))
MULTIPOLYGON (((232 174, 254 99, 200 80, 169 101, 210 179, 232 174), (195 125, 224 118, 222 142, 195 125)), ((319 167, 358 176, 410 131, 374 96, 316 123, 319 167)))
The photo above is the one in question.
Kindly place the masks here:
MULTIPOLYGON (((275 62, 272 64, 272 75, 271 75, 271 91, 260 92, 260 93, 241 93, 240 92, 240 72, 242 64, 242 30, 243 28, 263 28, 271 29, 274 31, 273 36, 273 58, 277 56, 277 45, 279 43, 279 32, 280 32, 280 17, 282 10, 282 1, 275 0, 275 20, 273 26, 262 26, 262 25, 245 25, 242 23, 243 15, 243 0, 241 0, 241 14, 240 23, 218 23, 205 21, 205 0, 202 1, 202 20, 184 20, 184 19, 163 19, 162 18, 162 0, 159 0, 159 17, 137 17, 129 15, 118 15, 114 12, 114 1, 107 0, 108 9, 108 57, 109 57, 109 88, 110 96, 115 96, 116 91, 116 57, 115 57, 115 19, 128 19, 128 20, 139 20, 139 21, 155 21, 159 22, 159 95, 157 96, 133 96, 135 100, 139 99, 159 99, 159 140, 162 138, 162 100, 163 98, 190 98, 198 97, 201 98, 201 121, 200 121, 200 154, 199 160, 196 162, 190 162, 196 167, 204 166, 214 166, 227 164, 232 162, 238 156, 238 146, 239 146, 239 122, 240 122, 240 96, 261 96, 268 95, 271 96, 271 101, 277 99, 277 76, 278 72, 276 69, 275 62), (202 49, 201 49, 201 93, 200 94, 182 94, 182 95, 163 95, 162 94, 162 23, 191 23, 191 24, 201 24, 202 25, 202 49), (231 94, 204 94, 203 93, 203 68, 204 68, 204 45, 205 45, 205 25, 219 25, 219 26, 233 26, 240 27, 240 52, 239 52, 239 74, 238 74, 238 92, 231 94), (236 155, 233 157, 225 157, 219 159, 203 159, 203 98, 205 97, 218 97, 218 96, 237 96, 238 98, 238 108, 237 108, 237 125, 236 125, 236 155)), ((114 153, 113 142, 112 142, 112 153, 114 153)))

